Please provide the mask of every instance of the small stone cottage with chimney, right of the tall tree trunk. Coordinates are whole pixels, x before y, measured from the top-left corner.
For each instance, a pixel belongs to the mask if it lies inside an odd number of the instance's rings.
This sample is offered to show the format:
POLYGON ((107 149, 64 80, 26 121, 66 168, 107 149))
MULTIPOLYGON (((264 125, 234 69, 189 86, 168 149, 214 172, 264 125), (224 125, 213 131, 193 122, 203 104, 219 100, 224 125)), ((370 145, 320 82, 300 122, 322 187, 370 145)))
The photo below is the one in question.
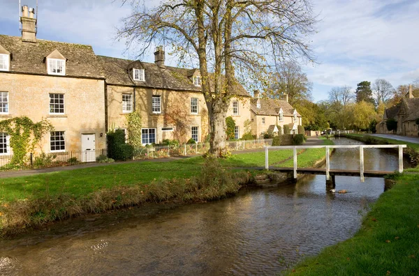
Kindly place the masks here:
POLYGON ((277 125, 281 126, 281 134, 284 134, 284 125, 288 125, 289 134, 297 134, 298 125, 302 125, 302 116, 287 100, 260 98, 259 91, 254 91, 250 107, 251 130, 257 137, 275 134, 279 131, 277 125))

